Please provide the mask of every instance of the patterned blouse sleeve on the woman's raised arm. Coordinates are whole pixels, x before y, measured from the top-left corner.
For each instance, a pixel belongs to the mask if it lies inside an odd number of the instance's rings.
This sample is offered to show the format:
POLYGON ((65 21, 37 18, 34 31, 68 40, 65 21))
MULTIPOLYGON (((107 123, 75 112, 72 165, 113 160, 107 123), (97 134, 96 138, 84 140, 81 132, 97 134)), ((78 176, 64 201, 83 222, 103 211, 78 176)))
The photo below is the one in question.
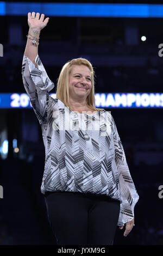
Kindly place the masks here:
POLYGON ((29 96, 39 123, 47 118, 53 99, 49 92, 54 88, 54 83, 49 79, 46 70, 37 54, 34 63, 24 54, 22 62, 22 78, 24 88, 29 96))

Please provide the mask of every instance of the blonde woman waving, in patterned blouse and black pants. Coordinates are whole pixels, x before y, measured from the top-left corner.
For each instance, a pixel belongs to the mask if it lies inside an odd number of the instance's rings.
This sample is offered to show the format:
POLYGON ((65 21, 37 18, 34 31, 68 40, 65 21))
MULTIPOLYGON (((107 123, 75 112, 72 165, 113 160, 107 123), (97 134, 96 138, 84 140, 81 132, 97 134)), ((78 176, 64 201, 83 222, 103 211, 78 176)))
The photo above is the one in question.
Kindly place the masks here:
POLYGON ((134 225, 139 200, 116 125, 95 107, 94 71, 83 58, 67 62, 53 82, 38 56, 39 35, 49 20, 28 13, 22 77, 42 129, 45 170, 41 192, 58 245, 112 245, 117 225, 134 225))

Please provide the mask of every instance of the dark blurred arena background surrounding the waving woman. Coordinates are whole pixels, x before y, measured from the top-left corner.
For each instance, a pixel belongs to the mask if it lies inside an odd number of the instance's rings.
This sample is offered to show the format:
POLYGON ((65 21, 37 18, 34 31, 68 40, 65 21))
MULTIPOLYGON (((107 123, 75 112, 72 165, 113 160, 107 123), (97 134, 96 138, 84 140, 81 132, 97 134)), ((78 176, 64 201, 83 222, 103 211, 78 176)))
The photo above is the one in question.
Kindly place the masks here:
MULTIPOLYGON (((37 12, 33 4, 42 2, 23 3, 30 3, 30 11, 37 12)), ((123 11, 127 14, 127 9, 108 17, 45 13, 50 19, 40 33, 39 56, 55 84, 67 60, 85 57, 95 67, 97 94, 159 95, 154 106, 149 103, 139 107, 104 108, 111 111, 115 119, 140 196, 135 206, 135 227, 127 237, 123 236, 124 229, 117 227, 114 245, 163 245, 163 198, 159 197, 159 187, 163 188, 163 58, 159 56, 159 45, 163 44, 163 2, 90 0, 76 3, 150 4, 153 8, 160 4, 153 16, 149 12, 146 17, 134 17, 134 11, 128 13, 131 15, 128 17, 121 15, 123 11), (146 36, 146 40, 142 36, 146 36)), ((28 33, 28 10, 23 11, 25 14, 17 14, 11 9, 0 15, 0 43, 3 45, 0 58, 0 245, 55 245, 40 192, 45 162, 41 126, 32 108, 21 104, 13 106, 9 101, 13 94, 20 97, 26 93, 21 66, 28 33), (9 106, 2 107, 3 101, 9 106)), ((55 93, 55 88, 51 93, 55 93)))

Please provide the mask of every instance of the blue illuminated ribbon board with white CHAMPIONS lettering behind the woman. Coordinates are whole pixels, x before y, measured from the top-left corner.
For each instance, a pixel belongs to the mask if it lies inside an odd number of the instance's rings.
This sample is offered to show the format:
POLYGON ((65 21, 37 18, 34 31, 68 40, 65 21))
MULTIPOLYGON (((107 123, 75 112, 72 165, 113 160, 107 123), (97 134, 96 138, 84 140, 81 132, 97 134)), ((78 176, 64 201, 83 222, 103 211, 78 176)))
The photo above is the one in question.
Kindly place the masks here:
MULTIPOLYGON (((55 99, 56 94, 50 93, 55 99)), ((163 93, 96 93, 98 108, 162 108, 163 93)), ((26 93, 1 93, 0 108, 32 108, 26 93)))

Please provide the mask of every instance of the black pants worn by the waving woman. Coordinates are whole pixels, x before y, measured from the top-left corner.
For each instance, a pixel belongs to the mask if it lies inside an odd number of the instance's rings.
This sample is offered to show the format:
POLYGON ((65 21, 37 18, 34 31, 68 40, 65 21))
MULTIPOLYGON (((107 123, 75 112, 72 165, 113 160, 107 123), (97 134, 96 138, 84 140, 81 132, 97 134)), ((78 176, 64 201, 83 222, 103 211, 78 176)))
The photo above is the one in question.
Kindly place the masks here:
POLYGON ((120 202, 102 194, 46 192, 48 220, 57 245, 112 245, 120 202))

